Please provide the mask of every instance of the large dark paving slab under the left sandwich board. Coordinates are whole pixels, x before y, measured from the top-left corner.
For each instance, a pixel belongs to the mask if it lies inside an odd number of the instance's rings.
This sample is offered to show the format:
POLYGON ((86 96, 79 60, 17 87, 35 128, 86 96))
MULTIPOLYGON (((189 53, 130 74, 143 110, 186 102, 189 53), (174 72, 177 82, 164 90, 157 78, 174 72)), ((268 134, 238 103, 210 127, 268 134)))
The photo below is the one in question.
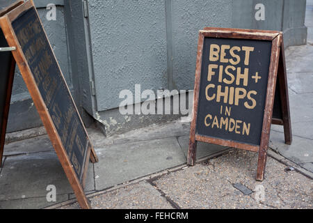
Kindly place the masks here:
MULTIPOLYGON (((0 175, 0 201, 45 197, 47 185, 56 194, 70 194, 72 187, 54 152, 7 157, 0 175)), ((94 190, 93 167, 88 168, 86 190, 94 190)))

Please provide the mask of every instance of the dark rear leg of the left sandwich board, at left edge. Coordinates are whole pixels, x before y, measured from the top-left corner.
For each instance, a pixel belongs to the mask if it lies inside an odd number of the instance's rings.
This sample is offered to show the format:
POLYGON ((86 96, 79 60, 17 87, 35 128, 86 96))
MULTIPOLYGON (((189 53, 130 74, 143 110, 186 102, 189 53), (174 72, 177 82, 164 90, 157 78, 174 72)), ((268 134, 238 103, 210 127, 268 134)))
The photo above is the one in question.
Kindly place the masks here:
POLYGON ((2 166, 2 157, 3 157, 3 150, 4 150, 4 143, 6 141, 6 125, 8 124, 8 114, 10 110, 10 100, 11 100, 11 94, 13 89, 13 79, 14 79, 14 73, 15 73, 15 59, 12 57, 12 61, 10 64, 10 73, 8 77, 8 84, 7 91, 6 91, 6 106, 3 109, 3 123, 1 128, 1 136, 0 136, 0 167, 2 166))

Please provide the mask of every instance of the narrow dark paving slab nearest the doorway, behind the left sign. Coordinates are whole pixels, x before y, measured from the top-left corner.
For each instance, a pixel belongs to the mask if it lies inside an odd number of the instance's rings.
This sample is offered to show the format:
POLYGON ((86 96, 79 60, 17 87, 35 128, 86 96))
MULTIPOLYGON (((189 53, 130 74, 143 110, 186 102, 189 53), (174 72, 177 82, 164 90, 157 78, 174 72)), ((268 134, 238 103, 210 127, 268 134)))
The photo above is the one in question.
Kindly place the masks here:
POLYGON ((4 146, 3 155, 17 155, 26 153, 38 153, 54 151, 49 137, 46 135, 15 141, 4 146))

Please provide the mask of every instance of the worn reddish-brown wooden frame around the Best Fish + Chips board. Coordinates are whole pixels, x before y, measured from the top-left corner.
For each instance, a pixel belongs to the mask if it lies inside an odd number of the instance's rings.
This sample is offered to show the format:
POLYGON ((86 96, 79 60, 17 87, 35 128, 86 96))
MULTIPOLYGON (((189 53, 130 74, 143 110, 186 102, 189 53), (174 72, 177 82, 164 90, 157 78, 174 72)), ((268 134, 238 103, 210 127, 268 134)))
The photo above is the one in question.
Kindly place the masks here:
POLYGON ((191 121, 191 131, 190 140, 188 148, 188 165, 193 166, 195 164, 195 155, 197 148, 197 141, 204 141, 210 144, 218 144, 222 146, 230 146, 234 148, 241 148, 248 151, 259 152, 259 159, 257 164, 257 180, 264 179, 264 170, 266 166, 266 156, 268 149, 268 140, 271 130, 271 123, 279 123, 284 125, 285 130, 285 140, 289 144, 291 143, 291 125, 290 125, 290 115, 289 115, 289 102, 288 91, 287 91, 287 76, 284 65, 284 52, 283 49, 280 50, 282 45, 282 33, 278 31, 262 31, 262 30, 250 30, 250 29, 225 29, 225 28, 214 28, 207 27, 199 32, 198 39, 198 54, 196 61, 195 70, 195 91, 193 98, 193 120, 191 121), (237 141, 218 139, 215 137, 202 136, 196 134, 197 130, 197 116, 198 116, 198 102, 200 93, 200 77, 202 68, 202 53, 204 38, 237 38, 237 39, 248 39, 248 40, 269 40, 272 42, 271 47, 271 62, 268 71, 268 83, 266 91, 266 104, 264 110, 264 118, 262 125, 262 136, 261 143, 259 146, 254 146, 250 144, 244 144, 237 141), (278 63, 280 61, 280 63, 278 63), (279 66, 280 65, 280 66, 279 66), (280 67, 279 79, 281 86, 281 96, 282 96, 282 111, 284 120, 272 121, 273 104, 275 97, 275 86, 278 74, 278 68, 280 67))

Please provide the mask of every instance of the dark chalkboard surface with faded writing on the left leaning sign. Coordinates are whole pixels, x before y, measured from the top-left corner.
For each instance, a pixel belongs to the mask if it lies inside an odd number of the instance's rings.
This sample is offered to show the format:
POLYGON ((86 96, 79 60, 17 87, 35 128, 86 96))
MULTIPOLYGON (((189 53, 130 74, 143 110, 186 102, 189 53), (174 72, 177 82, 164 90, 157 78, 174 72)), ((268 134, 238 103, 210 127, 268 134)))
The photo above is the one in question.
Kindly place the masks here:
POLYGON ((19 15, 12 26, 67 156, 81 181, 90 143, 35 8, 19 15))

